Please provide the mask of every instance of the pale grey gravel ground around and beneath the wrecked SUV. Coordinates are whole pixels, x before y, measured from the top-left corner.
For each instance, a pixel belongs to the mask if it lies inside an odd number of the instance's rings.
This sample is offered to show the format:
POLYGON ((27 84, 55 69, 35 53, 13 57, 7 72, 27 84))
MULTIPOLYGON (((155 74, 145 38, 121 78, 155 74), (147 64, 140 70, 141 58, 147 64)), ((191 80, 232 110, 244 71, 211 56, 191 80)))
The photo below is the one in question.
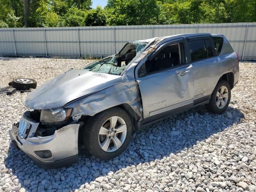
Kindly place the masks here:
MULTIPOLYGON (((38 85, 90 60, 0 58, 0 86, 31 77, 38 85)), ((240 63, 228 110, 204 106, 134 132, 120 156, 101 161, 80 149, 73 166, 44 170, 10 144, 8 130, 27 93, 0 94, 1 191, 256 192, 256 62, 240 63)))

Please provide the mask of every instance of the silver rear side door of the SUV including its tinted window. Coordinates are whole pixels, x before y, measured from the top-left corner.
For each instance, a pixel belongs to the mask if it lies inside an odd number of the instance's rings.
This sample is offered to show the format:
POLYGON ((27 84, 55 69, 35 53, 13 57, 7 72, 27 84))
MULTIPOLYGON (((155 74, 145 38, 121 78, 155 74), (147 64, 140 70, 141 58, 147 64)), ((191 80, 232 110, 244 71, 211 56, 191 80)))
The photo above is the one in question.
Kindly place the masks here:
POLYGON ((210 98, 216 79, 222 73, 222 66, 211 36, 188 37, 186 42, 188 62, 193 65, 194 104, 198 104, 210 98))

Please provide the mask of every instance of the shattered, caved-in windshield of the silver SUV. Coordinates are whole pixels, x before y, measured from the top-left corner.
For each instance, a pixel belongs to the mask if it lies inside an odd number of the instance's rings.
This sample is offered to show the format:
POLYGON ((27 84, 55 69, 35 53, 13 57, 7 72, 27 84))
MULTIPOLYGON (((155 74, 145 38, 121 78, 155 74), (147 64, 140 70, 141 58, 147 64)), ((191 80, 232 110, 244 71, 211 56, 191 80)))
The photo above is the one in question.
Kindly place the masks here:
POLYGON ((118 54, 93 62, 83 70, 120 75, 133 58, 139 54, 147 44, 148 42, 128 42, 118 54))

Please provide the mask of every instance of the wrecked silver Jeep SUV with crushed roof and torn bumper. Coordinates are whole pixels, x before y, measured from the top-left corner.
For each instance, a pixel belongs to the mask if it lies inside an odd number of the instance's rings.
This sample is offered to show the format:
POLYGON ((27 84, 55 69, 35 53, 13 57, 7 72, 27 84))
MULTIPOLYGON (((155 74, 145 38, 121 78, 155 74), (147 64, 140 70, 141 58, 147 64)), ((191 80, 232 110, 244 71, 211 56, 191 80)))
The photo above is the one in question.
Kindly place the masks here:
POLYGON ((44 168, 78 161, 79 140, 108 160, 140 130, 206 104, 222 113, 238 82, 239 58, 224 35, 181 34, 128 42, 115 55, 70 69, 28 94, 10 138, 44 168))

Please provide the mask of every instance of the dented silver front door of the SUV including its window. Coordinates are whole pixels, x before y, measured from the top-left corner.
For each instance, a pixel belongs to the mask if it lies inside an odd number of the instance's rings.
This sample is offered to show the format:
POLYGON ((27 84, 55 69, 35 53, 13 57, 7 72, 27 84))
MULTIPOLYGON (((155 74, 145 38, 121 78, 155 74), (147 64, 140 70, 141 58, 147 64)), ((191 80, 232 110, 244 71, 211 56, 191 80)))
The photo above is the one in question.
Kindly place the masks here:
POLYGON ((186 64, 184 39, 162 44, 135 70, 144 123, 193 106, 193 66, 186 64))

